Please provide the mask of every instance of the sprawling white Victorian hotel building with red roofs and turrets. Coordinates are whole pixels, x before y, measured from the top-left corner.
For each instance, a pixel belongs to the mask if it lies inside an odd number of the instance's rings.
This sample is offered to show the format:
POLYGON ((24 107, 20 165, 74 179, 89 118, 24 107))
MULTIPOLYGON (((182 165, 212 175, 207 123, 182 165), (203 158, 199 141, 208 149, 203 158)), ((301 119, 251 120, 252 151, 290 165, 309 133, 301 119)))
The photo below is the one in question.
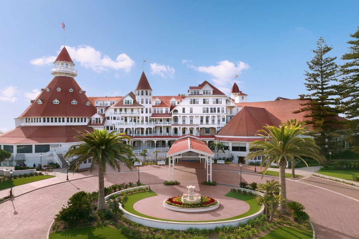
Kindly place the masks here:
POLYGON ((77 71, 65 47, 54 64, 54 78, 15 119, 16 128, 0 135, 1 149, 12 153, 2 166, 64 163, 64 152, 78 143, 76 130, 102 128, 125 132, 136 149, 171 147, 188 135, 208 145, 220 140, 228 146, 226 155, 238 163, 249 143, 259 139, 256 133, 262 126, 303 120, 305 114, 292 113, 303 103, 297 99, 247 103, 236 83, 230 97, 208 81, 189 86, 187 95, 156 96, 144 72, 123 97, 87 97, 74 79, 77 71))

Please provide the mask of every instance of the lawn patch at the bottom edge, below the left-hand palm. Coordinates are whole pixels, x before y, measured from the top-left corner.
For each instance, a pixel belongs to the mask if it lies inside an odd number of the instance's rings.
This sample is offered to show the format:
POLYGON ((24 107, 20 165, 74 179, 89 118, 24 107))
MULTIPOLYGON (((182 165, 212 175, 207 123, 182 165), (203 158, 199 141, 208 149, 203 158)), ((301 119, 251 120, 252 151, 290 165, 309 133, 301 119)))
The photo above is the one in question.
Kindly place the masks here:
POLYGON ((63 238, 76 238, 76 239, 138 239, 134 236, 125 235, 120 233, 115 228, 109 226, 90 226, 88 228, 70 229, 58 233, 51 233, 49 239, 63 239, 63 238))

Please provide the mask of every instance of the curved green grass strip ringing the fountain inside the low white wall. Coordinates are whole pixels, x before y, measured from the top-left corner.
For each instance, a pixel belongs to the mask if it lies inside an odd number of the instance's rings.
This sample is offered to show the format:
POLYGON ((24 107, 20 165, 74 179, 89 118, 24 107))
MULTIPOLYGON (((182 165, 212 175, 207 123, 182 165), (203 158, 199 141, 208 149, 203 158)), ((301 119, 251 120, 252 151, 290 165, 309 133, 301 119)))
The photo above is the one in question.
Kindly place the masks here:
POLYGON ((133 195, 128 195, 126 202, 123 203, 122 206, 123 206, 123 208, 126 209, 126 211, 131 212, 132 214, 135 214, 137 216, 146 217, 146 218, 155 219, 155 220, 174 221, 174 222, 213 222, 213 221, 235 220, 235 219, 239 219, 239 218, 242 218, 242 217, 246 217, 246 216, 255 214, 256 212, 258 212, 261 209, 261 206, 259 206, 257 204, 257 199, 255 197, 252 197, 250 195, 244 195, 244 194, 238 193, 238 192, 229 192, 224 196, 232 197, 232 198, 236 198, 238 200, 245 201, 250 206, 250 210, 248 210, 244 214, 237 215, 237 216, 234 216, 234 217, 225 218, 225 219, 209 220, 209 221, 178 221, 178 220, 169 220, 169 219, 163 219, 163 218, 158 218, 158 217, 151 217, 151 216, 142 214, 140 212, 137 212, 134 209, 133 206, 137 201, 139 201, 141 199, 144 199, 146 197, 153 197, 153 196, 157 196, 157 194, 155 192, 153 192, 153 191, 140 192, 140 193, 135 193, 133 195))

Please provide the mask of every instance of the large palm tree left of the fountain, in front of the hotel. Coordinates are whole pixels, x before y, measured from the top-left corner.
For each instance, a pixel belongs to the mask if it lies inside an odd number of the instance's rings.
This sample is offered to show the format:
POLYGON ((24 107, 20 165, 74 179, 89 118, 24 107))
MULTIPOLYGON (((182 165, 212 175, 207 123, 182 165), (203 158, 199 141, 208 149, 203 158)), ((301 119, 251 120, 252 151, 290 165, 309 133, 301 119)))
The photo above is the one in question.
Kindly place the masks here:
POLYGON ((82 133, 75 136, 81 142, 74 145, 64 158, 69 159, 73 156, 79 156, 70 163, 71 170, 77 170, 81 163, 91 159, 90 171, 94 165, 98 166, 98 211, 106 209, 105 192, 104 192, 104 173, 106 173, 106 164, 111 168, 120 169, 117 160, 122 161, 127 167, 132 169, 133 163, 126 156, 133 155, 133 147, 125 144, 122 140, 130 140, 130 137, 124 136, 125 133, 116 133, 116 131, 108 132, 107 130, 94 130, 93 132, 82 133))

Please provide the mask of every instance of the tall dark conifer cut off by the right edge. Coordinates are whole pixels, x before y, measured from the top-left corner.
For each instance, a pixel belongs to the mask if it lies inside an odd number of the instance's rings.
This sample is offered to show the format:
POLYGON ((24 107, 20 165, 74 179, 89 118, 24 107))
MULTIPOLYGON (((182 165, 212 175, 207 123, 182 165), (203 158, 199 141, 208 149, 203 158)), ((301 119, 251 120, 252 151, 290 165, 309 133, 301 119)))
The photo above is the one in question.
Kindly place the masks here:
POLYGON ((359 154, 359 119, 356 118, 359 116, 359 27, 350 37, 354 39, 347 42, 350 44, 349 52, 341 57, 346 62, 340 67, 342 78, 338 86, 338 100, 342 113, 352 119, 348 123, 346 140, 351 150, 359 154))

